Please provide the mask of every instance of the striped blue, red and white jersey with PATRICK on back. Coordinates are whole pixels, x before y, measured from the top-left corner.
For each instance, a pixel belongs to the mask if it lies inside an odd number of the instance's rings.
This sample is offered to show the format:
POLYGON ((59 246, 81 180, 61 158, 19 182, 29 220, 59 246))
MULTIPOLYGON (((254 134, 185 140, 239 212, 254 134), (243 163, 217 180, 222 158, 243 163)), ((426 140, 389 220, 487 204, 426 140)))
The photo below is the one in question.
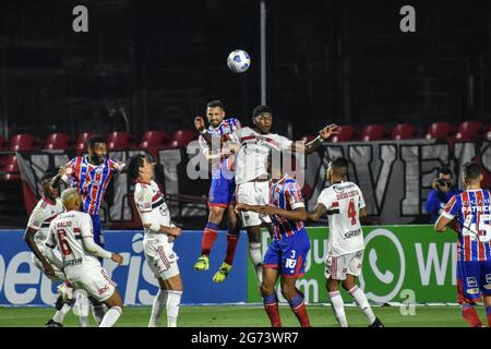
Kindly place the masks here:
POLYGON ((491 260, 491 205, 489 190, 467 190, 454 195, 442 216, 456 217, 458 261, 491 260))

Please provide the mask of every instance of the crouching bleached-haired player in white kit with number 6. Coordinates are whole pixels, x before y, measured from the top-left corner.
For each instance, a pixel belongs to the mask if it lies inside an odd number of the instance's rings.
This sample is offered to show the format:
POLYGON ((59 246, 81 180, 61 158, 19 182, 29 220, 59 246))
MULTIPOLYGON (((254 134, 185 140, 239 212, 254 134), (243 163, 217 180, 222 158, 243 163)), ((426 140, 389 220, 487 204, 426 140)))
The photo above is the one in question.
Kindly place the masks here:
POLYGON ((94 242, 91 216, 80 212, 82 198, 75 188, 63 191, 61 201, 67 212, 58 215, 49 226, 46 240, 46 246, 49 249, 45 250, 46 256, 64 270, 74 288, 85 290, 88 296, 109 308, 99 327, 111 327, 122 313, 122 299, 116 289, 116 282, 108 277, 97 257, 118 264, 122 263, 123 257, 94 242), (60 249, 62 261, 53 255, 56 246, 60 249))

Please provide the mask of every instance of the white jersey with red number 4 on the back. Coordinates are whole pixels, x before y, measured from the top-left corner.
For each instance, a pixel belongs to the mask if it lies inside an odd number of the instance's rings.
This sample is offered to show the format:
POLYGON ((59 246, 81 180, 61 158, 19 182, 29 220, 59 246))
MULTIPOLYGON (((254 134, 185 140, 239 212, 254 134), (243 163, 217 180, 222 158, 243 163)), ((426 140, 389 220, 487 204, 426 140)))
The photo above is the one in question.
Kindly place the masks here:
POLYGON ((360 188, 352 182, 333 184, 321 192, 318 203, 327 209, 328 255, 338 256, 363 250, 360 209, 364 207, 364 200, 360 188))

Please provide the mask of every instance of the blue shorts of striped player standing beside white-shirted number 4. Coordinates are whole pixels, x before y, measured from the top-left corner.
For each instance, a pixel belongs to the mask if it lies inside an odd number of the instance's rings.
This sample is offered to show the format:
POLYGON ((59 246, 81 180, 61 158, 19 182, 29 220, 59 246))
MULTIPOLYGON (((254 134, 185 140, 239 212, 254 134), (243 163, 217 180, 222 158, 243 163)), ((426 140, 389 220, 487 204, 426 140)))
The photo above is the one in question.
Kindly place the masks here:
POLYGON ((273 240, 264 255, 263 268, 278 269, 285 277, 301 277, 306 274, 307 254, 310 239, 306 229, 296 231, 291 237, 273 240))

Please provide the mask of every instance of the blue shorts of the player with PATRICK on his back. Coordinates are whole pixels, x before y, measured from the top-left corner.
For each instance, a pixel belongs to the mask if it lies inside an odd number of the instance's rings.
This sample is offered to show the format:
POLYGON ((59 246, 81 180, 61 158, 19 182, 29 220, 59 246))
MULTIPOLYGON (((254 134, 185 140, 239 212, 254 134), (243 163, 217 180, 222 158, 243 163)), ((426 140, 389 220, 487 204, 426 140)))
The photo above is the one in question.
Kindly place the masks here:
POLYGON ((458 261, 457 293, 459 303, 474 303, 481 294, 491 296, 491 261, 458 261))

